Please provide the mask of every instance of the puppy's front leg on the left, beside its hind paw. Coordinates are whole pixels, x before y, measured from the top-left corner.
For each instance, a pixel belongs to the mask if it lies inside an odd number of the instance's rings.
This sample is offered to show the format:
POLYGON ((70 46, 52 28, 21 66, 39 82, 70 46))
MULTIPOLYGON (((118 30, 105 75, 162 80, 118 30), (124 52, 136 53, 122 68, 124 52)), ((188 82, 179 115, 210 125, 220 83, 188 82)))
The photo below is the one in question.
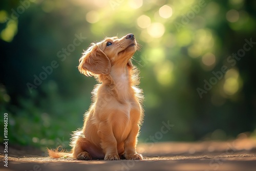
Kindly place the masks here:
POLYGON ((120 160, 117 152, 117 141, 112 131, 112 125, 103 122, 99 124, 98 135, 101 147, 105 153, 104 160, 120 160))

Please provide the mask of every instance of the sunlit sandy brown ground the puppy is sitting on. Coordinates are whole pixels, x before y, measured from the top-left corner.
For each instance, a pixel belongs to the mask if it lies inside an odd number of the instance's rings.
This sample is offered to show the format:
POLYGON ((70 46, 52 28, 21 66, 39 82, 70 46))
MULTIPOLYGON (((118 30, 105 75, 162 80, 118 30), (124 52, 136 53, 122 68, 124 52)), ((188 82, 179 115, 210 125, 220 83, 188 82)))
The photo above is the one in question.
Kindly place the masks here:
POLYGON ((32 148, 11 148, 8 167, 4 166, 1 148, 1 170, 256 170, 256 139, 239 138, 218 142, 163 142, 139 144, 137 151, 144 160, 81 161, 52 159, 32 148), (38 155, 35 155, 38 154, 38 155))

